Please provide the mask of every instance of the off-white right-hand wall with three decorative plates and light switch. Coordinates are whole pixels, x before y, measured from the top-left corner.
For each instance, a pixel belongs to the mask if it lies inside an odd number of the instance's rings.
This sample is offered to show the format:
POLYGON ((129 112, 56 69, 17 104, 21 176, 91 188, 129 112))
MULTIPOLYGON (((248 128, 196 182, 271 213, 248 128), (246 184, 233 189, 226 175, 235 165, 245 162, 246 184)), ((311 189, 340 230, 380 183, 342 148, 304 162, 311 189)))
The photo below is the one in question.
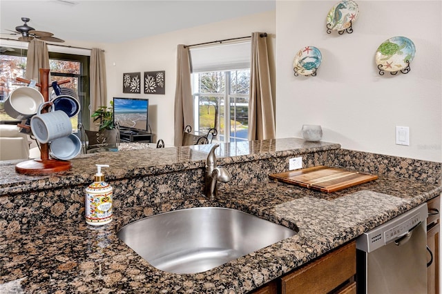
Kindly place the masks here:
POLYGON ((343 148, 442 162, 441 1, 356 2, 354 32, 328 35, 336 1, 277 1, 277 137, 320 124, 343 148), (394 36, 416 46, 411 72, 380 76, 376 49, 394 36), (304 46, 322 52, 316 77, 293 75, 304 46), (410 127, 410 146, 395 144, 395 126, 410 127))

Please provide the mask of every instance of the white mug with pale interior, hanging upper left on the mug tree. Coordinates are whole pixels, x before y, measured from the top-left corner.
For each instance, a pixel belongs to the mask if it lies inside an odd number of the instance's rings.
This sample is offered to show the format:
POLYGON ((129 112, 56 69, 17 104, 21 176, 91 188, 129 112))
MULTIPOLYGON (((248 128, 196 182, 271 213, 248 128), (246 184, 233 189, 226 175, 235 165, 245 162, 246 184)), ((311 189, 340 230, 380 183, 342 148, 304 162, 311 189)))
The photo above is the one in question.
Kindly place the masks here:
POLYGON ((20 87, 6 99, 4 108, 10 117, 26 120, 37 113, 37 108, 44 102, 41 92, 31 87, 20 87))

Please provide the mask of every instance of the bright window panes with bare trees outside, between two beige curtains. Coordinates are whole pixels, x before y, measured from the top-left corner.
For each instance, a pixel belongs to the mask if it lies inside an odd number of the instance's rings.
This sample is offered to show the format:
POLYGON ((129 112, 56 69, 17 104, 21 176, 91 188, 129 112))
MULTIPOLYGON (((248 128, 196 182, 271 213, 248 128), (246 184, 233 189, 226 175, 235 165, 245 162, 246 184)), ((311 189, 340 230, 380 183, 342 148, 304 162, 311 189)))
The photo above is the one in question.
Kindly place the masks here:
POLYGON ((250 70, 200 72, 192 79, 197 130, 216 128, 218 141, 247 141, 250 70))

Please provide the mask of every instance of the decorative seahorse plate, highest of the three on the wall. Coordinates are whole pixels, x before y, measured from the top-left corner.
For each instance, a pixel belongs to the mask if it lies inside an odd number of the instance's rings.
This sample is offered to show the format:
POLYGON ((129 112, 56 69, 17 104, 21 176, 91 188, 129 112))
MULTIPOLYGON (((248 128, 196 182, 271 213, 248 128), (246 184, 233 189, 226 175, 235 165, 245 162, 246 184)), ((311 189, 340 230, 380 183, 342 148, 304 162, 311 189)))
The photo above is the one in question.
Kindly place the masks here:
POLYGON ((352 26, 359 14, 358 4, 352 0, 336 3, 327 14, 327 28, 342 31, 352 26))

